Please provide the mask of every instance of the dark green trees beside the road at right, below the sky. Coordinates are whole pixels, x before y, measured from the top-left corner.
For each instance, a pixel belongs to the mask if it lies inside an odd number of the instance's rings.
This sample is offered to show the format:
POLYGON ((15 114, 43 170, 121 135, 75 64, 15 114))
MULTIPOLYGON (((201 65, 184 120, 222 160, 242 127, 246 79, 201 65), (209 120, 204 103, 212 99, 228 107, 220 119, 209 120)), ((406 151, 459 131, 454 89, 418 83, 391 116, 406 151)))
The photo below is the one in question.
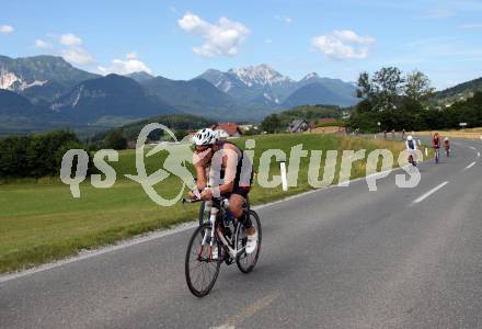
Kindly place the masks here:
POLYGON ((434 101, 435 90, 421 71, 408 75, 397 67, 385 67, 372 76, 358 78, 357 97, 348 126, 374 133, 378 131, 425 131, 482 125, 482 93, 450 105, 434 101))

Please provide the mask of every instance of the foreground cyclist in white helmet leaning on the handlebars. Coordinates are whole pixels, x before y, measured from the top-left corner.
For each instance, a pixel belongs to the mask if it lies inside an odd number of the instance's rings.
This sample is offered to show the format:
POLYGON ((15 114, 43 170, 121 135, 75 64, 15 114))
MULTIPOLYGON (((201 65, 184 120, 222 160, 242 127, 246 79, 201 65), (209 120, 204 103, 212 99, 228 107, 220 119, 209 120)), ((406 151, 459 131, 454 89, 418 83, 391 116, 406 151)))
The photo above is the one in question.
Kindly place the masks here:
POLYGON ((245 251, 252 253, 256 249, 257 231, 243 212, 243 204, 252 183, 252 164, 249 157, 234 144, 218 140, 216 133, 210 128, 200 129, 193 139, 195 144, 193 162, 198 191, 190 192, 190 197, 196 197, 195 194, 199 192, 202 200, 209 201, 214 196, 214 189, 216 189, 220 196, 228 198, 228 211, 246 228, 245 251), (207 186, 206 169, 209 167, 213 170, 219 168, 220 172, 214 173, 222 180, 219 186, 207 186))

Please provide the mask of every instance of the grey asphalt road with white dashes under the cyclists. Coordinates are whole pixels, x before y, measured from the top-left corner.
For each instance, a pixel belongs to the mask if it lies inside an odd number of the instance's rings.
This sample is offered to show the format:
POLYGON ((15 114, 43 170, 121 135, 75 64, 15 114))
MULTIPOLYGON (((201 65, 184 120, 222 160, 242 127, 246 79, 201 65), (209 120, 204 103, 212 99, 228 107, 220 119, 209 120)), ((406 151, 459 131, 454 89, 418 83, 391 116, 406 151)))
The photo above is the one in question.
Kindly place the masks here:
POLYGON ((184 280, 188 229, 0 282, 0 327, 482 328, 478 151, 455 141, 413 189, 393 172, 259 209, 256 269, 222 265, 205 298, 184 280))

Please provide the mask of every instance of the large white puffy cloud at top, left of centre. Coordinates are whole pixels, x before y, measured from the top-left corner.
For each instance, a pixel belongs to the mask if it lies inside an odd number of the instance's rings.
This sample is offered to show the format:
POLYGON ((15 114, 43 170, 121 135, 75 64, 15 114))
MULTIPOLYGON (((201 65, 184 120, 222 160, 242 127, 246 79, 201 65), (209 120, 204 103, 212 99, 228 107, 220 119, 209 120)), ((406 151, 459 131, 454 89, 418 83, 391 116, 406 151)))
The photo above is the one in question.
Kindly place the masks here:
POLYGON ((237 55, 240 45, 251 33, 244 24, 227 18, 220 18, 216 24, 211 24, 193 13, 186 13, 177 23, 185 32, 204 38, 202 46, 193 48, 195 54, 204 57, 237 55))

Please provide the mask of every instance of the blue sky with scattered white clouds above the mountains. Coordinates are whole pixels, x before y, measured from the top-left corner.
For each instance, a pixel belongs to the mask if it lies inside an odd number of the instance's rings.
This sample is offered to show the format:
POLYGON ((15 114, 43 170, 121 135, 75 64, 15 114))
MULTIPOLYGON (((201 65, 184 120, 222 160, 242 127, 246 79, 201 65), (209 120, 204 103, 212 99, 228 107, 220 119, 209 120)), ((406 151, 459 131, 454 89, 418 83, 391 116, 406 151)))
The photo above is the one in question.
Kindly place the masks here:
POLYGON ((420 69, 441 89, 482 76, 482 1, 2 1, 0 54, 95 72, 191 79, 268 64, 300 79, 420 69))

